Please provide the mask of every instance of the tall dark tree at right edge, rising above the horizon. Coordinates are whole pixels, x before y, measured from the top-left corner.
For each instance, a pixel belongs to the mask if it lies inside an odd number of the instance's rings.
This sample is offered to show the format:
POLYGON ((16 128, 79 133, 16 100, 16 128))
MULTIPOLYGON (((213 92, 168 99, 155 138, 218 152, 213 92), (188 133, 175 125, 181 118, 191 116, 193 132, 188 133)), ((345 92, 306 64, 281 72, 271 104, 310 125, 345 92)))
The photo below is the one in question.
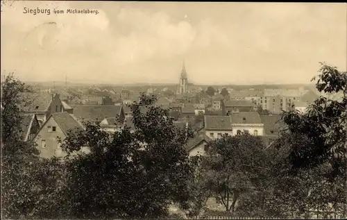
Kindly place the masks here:
MULTIPOLYGON (((288 178, 303 176, 301 183, 314 196, 301 196, 306 206, 315 206, 317 213, 327 214, 327 204, 342 205, 346 216, 346 71, 338 71, 321 63, 316 88, 319 92, 343 93, 341 100, 320 96, 307 112, 289 110, 282 115, 288 126, 276 141, 278 148, 287 148, 288 178), (307 178, 310 177, 310 178, 307 178)), ((315 79, 315 78, 314 78, 315 79)), ((314 80, 313 79, 313 80, 314 80)), ((296 187, 299 188, 299 187, 296 187)), ((319 215, 319 214, 318 214, 319 215)))

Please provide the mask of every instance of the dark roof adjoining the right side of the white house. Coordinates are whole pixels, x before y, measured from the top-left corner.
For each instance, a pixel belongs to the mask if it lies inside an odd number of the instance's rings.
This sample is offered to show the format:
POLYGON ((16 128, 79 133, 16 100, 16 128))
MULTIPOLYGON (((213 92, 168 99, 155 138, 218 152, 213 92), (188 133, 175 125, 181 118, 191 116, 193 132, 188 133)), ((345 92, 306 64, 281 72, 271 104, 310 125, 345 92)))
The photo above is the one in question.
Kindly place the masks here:
POLYGON ((280 115, 262 115, 260 119, 264 124, 264 135, 277 136, 278 131, 286 127, 280 115))

